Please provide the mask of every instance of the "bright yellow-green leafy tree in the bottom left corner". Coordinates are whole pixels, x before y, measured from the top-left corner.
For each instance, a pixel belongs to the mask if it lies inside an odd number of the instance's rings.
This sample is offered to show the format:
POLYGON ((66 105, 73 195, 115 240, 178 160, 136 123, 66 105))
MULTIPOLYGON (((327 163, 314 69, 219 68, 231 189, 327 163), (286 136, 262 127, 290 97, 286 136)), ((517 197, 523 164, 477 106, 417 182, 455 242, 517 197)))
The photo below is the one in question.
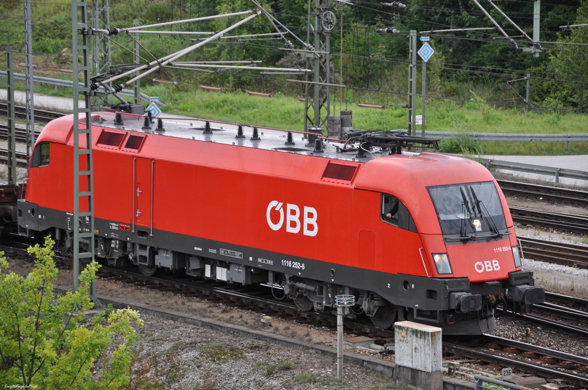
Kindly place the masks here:
POLYGON ((55 296, 55 241, 45 238, 28 252, 35 269, 27 277, 6 273, 0 252, 0 383, 39 389, 118 389, 128 384, 136 340, 135 310, 108 310, 86 321, 93 307, 88 288, 100 267, 82 271, 78 291, 55 296), (102 372, 93 375, 96 363, 102 372))

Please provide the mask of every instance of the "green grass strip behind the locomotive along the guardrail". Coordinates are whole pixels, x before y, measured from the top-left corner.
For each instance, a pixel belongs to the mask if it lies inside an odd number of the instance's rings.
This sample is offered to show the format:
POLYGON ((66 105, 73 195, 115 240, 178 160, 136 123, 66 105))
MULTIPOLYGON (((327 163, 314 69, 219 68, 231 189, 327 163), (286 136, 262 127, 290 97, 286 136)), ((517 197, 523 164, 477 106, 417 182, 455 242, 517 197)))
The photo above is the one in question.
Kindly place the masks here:
MULTIPOLYGON (((147 86, 143 92, 152 96, 168 95, 169 103, 163 100, 167 105, 163 108, 164 112, 288 130, 302 130, 304 127, 305 103, 294 97, 268 98, 242 92, 202 90, 169 92, 169 88, 161 86, 147 86)), ((357 106, 348 108, 353 110, 353 127, 356 129, 406 129, 407 112, 401 107, 385 110, 357 106)), ((467 133, 558 134, 586 131, 586 118, 574 114, 521 112, 490 106, 480 109, 479 105, 459 106, 454 102, 431 103, 426 112, 427 131, 449 131, 464 136, 467 133)), ((338 110, 332 112, 333 115, 338 113, 338 110)), ((572 142, 568 146, 567 142, 492 141, 479 142, 474 148, 468 145, 467 150, 486 154, 584 154, 588 153, 588 142, 572 142)))

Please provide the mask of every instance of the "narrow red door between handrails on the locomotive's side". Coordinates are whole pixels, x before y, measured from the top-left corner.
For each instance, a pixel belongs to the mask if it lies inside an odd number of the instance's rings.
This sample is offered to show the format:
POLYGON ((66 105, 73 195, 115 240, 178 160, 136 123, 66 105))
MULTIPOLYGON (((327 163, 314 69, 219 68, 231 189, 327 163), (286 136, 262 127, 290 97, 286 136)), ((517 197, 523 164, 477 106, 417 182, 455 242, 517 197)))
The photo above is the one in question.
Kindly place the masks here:
POLYGON ((133 223, 149 228, 153 223, 153 166, 155 160, 135 157, 133 161, 133 223))

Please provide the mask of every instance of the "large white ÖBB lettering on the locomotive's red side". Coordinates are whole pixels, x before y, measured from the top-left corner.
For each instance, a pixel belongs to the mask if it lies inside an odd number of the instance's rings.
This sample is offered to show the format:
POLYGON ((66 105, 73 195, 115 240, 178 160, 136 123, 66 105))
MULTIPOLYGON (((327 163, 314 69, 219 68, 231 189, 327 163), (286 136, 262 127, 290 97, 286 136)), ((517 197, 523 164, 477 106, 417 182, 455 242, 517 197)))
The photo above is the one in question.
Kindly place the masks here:
MULTIPOLYGON (((316 224, 316 209, 314 207, 304 206, 303 216, 303 230, 302 234, 305 236, 315 237, 316 233, 319 232, 319 226, 316 224)), ((283 202, 272 200, 268 204, 266 210, 266 218, 268 219, 268 225, 272 230, 278 231, 284 224, 286 219, 286 231, 288 233, 299 233, 300 232, 300 208, 296 204, 286 203, 286 216, 284 216, 283 202), (272 218, 272 210, 279 211, 280 219, 278 223, 273 223, 276 219, 275 214, 272 218)))

